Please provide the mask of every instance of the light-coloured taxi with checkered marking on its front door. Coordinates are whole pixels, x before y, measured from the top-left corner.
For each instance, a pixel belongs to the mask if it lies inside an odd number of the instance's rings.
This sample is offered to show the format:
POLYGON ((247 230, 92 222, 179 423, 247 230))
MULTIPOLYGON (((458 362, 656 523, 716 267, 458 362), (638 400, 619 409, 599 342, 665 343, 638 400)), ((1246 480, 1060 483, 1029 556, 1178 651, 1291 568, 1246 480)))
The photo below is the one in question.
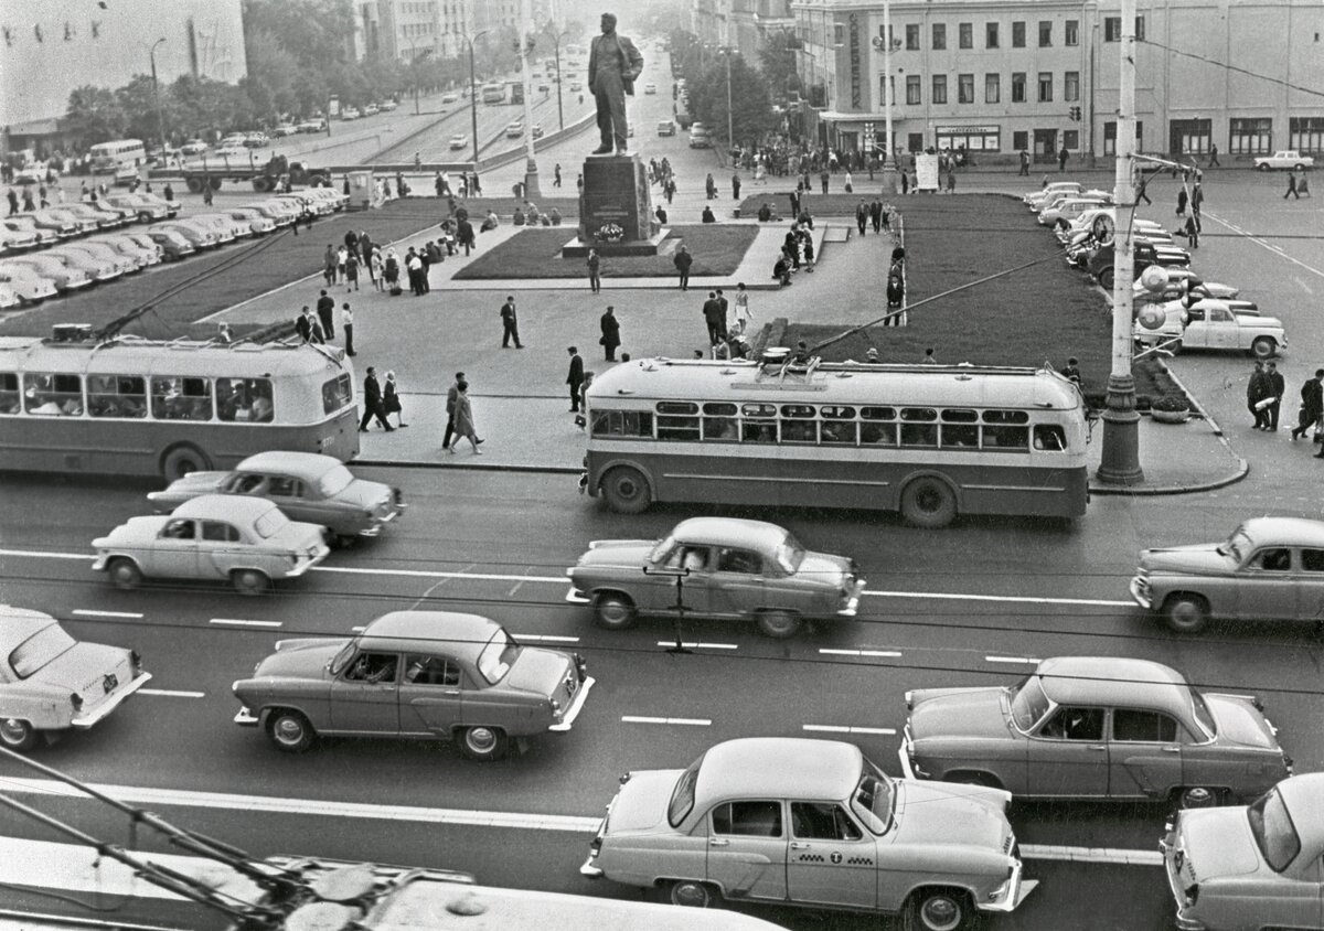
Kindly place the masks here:
POLYGON ((1021 878, 1010 800, 892 779, 849 743, 727 740, 686 769, 621 776, 580 873, 675 905, 730 898, 970 928, 1035 886, 1021 878))

